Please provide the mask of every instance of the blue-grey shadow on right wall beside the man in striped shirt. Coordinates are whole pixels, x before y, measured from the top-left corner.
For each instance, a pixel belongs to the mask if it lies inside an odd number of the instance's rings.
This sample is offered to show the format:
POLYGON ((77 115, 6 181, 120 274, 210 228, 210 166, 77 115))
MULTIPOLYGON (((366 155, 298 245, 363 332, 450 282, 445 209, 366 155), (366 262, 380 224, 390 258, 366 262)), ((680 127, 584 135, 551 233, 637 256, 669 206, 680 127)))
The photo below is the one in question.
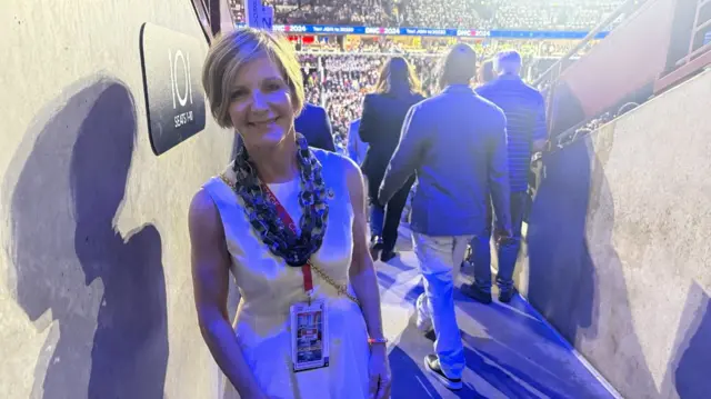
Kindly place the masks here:
POLYGON ((528 228, 529 301, 570 342, 594 338, 595 270, 585 239, 590 158, 583 141, 545 154, 528 228), (571 312, 574 310, 574 312, 571 312), (590 329, 590 330, 588 330, 590 329))

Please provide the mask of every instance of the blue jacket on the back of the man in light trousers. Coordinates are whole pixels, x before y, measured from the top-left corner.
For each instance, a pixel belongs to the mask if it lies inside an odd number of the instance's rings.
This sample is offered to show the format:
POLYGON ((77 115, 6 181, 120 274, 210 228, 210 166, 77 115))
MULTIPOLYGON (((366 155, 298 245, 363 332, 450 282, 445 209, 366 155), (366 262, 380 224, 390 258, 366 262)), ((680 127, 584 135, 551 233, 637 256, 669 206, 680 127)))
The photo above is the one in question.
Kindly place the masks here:
POLYGON ((478 235, 485 227, 489 187, 508 203, 504 126, 503 112, 467 86, 450 86, 412 107, 385 178, 392 182, 383 188, 417 170, 413 231, 478 235))

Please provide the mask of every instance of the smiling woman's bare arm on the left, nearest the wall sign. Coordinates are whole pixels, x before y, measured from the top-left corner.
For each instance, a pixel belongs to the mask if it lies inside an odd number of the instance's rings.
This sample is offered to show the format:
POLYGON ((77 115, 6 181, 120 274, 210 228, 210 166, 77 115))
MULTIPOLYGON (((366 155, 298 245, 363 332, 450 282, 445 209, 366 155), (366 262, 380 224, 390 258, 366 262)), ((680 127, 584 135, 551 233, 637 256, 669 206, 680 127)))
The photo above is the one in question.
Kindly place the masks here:
POLYGON ((240 397, 266 398, 250 370, 227 311, 230 258, 214 202, 200 190, 189 215, 192 283, 200 331, 212 357, 240 397))

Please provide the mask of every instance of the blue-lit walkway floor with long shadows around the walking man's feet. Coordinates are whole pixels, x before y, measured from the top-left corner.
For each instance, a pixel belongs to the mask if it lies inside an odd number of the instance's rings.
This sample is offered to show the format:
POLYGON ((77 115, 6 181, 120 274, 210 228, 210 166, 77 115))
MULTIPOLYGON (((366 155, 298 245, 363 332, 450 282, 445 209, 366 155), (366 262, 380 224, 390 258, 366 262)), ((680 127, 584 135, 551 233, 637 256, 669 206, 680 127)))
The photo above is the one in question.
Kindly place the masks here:
MULTIPOLYGON (((467 369, 464 388, 449 391, 422 365, 433 342, 414 326, 415 301, 423 288, 405 226, 400 236, 400 256, 375 263, 397 376, 392 398, 620 398, 522 297, 484 306, 459 290, 454 299, 467 369)), ((460 273, 458 286, 468 276, 460 273)))

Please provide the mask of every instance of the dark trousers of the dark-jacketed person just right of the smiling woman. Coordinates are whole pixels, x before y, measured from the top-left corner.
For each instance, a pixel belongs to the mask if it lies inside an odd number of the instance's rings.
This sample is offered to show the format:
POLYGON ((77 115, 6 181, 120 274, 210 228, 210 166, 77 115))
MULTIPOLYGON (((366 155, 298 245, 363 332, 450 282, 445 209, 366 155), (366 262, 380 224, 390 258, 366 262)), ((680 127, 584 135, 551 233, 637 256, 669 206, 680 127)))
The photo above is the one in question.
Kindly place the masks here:
POLYGON ((400 227, 402 210, 408 202, 410 189, 414 183, 414 176, 408 179, 384 207, 378 202, 378 190, 380 189, 381 181, 382 176, 380 176, 380 179, 378 179, 378 177, 374 177, 374 179, 368 178, 370 233, 371 237, 382 237, 383 251, 392 251, 398 242, 398 228, 400 227))

